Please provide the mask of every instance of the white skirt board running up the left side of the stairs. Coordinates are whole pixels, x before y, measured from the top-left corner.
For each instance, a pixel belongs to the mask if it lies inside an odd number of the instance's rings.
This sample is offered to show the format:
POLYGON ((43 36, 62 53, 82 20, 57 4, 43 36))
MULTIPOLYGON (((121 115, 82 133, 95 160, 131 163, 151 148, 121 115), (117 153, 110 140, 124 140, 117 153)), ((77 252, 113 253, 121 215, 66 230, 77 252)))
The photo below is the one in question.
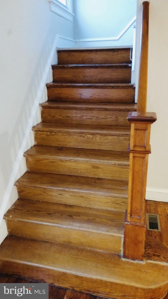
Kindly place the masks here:
MULTIPOLYGON (((0 244, 4 240, 4 238, 7 236, 7 227, 5 224, 5 221, 3 219, 4 213, 7 209, 13 205, 13 203, 17 200, 17 191, 16 187, 14 186, 14 183, 16 179, 18 179, 20 176, 22 176, 23 173, 26 171, 25 166, 25 158, 23 157, 23 154, 25 150, 30 148, 34 144, 33 140, 33 134, 32 134, 32 126, 35 125, 40 121, 40 109, 39 109, 39 103, 42 103, 44 101, 43 99, 46 99, 46 87, 45 84, 49 82, 48 80, 51 80, 51 64, 53 63, 53 58, 56 55, 56 48, 58 45, 59 35, 55 36, 54 43, 51 48, 50 55, 48 57, 45 70, 42 75, 42 79, 39 84, 38 91, 36 93, 36 97, 34 99, 34 104, 31 110, 30 118, 28 120, 28 126, 25 131, 25 135, 23 137, 20 149, 18 151, 15 163, 13 165, 13 169, 7 184, 7 188, 4 193, 4 197, 2 199, 1 207, 0 207, 0 244)), ((54 62, 56 63, 56 62, 54 62)))

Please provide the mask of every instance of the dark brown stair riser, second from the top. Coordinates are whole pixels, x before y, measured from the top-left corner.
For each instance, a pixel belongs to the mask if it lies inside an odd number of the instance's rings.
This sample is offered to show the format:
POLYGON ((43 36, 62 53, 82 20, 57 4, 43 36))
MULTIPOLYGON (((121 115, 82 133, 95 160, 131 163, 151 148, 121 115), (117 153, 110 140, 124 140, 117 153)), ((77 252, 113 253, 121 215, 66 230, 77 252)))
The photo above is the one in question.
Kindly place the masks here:
POLYGON ((110 67, 75 67, 53 68, 54 82, 73 83, 130 83, 131 68, 110 67))

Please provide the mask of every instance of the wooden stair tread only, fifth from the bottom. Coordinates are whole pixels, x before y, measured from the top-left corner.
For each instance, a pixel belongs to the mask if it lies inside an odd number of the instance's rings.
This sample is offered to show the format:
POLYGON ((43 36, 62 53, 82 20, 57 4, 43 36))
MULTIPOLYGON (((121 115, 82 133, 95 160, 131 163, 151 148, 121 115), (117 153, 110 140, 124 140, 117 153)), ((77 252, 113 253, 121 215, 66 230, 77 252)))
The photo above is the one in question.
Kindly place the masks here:
POLYGON ((96 126, 96 125, 81 125, 81 124, 64 124, 64 123, 38 123, 33 126, 34 131, 48 131, 48 132, 88 132, 101 133, 112 135, 130 135, 130 128, 124 126, 96 126))

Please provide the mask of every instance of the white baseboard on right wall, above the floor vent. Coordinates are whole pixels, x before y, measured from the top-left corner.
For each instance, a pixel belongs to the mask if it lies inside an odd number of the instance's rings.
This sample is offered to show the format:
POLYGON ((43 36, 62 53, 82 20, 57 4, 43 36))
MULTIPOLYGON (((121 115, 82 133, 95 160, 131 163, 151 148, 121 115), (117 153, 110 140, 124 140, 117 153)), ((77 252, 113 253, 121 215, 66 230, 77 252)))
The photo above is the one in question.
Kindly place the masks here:
POLYGON ((168 202, 168 189, 146 188, 146 200, 168 202))

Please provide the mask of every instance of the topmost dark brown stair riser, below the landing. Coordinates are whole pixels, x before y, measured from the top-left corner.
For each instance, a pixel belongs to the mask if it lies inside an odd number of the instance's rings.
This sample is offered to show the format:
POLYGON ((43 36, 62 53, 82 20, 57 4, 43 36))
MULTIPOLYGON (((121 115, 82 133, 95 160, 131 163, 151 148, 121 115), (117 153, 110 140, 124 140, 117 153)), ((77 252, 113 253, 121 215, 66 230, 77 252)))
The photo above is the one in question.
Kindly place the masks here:
POLYGON ((131 63, 130 49, 99 51, 58 51, 59 64, 112 64, 131 63))

